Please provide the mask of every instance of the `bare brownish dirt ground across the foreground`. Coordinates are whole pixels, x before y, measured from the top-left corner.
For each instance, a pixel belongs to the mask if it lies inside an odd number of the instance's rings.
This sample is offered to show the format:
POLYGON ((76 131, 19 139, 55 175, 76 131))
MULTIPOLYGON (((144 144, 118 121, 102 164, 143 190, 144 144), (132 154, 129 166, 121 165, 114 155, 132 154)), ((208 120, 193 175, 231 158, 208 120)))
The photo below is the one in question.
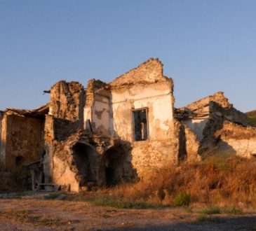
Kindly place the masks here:
POLYGON ((256 213, 202 216, 182 208, 116 209, 28 197, 0 199, 0 230, 256 230, 256 213))

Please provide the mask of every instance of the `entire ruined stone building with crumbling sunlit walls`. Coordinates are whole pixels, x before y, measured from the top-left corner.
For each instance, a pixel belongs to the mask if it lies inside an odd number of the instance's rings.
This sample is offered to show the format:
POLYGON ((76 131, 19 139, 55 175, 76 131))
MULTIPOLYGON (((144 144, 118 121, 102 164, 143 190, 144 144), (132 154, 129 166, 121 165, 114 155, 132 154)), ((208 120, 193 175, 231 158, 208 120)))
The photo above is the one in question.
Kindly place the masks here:
POLYGON ((0 114, 1 169, 40 165, 34 183, 79 191, 141 179, 216 148, 256 153, 255 129, 222 92, 175 109, 173 79, 163 75, 159 59, 110 83, 92 79, 84 88, 61 80, 49 92, 50 102, 39 109, 0 114))

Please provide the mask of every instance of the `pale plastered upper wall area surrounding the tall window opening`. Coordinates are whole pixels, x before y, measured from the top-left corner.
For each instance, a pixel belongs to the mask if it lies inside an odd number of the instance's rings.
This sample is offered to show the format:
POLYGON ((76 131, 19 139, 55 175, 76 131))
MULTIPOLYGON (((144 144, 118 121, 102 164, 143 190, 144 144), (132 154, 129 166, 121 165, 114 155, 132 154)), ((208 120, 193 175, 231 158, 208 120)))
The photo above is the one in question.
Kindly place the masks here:
POLYGON ((147 108, 149 140, 170 139, 173 122, 173 92, 168 81, 133 85, 112 90, 114 131, 123 140, 133 141, 133 109, 147 108))

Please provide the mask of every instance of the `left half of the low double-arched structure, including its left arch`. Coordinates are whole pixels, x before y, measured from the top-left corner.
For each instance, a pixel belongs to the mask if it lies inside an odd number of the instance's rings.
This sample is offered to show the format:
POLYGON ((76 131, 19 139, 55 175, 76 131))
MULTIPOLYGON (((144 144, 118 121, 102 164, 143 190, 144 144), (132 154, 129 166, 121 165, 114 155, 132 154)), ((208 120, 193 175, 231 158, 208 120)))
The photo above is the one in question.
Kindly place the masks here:
POLYGON ((79 188, 87 183, 97 181, 97 151, 94 146, 81 140, 81 134, 76 133, 61 144, 55 144, 53 150, 53 182, 59 185, 66 185, 72 191, 79 191, 79 188), (81 155, 77 153, 76 145, 84 145, 88 149, 81 155), (86 160, 83 160, 86 158, 86 160), (86 178, 86 171, 90 176, 86 178))

